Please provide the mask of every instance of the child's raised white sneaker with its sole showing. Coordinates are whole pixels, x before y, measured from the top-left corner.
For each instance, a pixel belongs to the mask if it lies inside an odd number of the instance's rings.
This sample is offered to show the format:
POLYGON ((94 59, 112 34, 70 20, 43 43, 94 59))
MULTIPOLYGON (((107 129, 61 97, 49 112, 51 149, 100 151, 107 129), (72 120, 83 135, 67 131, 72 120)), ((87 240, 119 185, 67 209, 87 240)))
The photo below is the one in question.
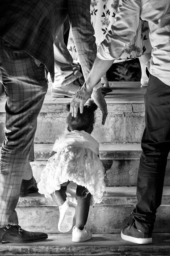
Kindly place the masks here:
POLYGON ((71 230, 71 228, 73 227, 73 218, 75 212, 75 208, 71 207, 67 201, 65 201, 64 204, 59 206, 59 232, 65 233, 71 230))

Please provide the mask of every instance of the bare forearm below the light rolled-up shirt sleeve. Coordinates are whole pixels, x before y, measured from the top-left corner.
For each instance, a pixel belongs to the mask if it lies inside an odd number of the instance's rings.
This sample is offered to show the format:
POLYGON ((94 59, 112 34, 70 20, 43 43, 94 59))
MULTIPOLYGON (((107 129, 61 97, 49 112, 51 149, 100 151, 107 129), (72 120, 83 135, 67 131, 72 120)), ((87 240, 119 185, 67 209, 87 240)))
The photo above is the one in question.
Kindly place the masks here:
POLYGON ((93 90, 94 86, 99 83, 101 77, 106 73, 106 71, 113 64, 113 60, 105 61, 96 57, 91 72, 85 82, 85 87, 88 90, 93 90))

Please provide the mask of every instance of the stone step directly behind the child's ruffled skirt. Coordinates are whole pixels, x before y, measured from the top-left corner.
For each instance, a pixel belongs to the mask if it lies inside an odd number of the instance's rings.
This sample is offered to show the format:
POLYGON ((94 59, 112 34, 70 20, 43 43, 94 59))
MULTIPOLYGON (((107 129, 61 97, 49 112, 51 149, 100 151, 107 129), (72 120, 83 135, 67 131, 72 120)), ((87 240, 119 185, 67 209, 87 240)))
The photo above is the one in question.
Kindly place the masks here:
MULTIPOLYGON (((35 161, 32 163, 37 182, 52 151, 53 144, 35 144, 35 161)), ((100 144, 100 159, 105 167, 107 186, 136 186, 139 159, 142 152, 139 143, 100 144)), ((170 186, 170 154, 167 160, 165 186, 170 186)))

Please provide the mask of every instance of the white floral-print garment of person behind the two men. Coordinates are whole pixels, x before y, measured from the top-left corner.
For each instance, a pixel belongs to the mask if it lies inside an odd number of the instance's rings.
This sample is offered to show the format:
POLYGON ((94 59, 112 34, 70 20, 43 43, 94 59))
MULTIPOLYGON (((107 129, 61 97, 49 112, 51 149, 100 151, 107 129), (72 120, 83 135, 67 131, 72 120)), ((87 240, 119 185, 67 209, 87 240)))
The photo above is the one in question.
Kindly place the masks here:
MULTIPOLYGON (((105 39, 111 26, 115 23, 118 7, 119 0, 91 0, 91 23, 94 27, 97 46, 105 39)), ((77 61, 77 52, 71 31, 68 39, 68 50, 74 61, 77 61)), ((136 35, 115 62, 136 58, 150 53, 151 50, 148 22, 140 19, 136 35)))

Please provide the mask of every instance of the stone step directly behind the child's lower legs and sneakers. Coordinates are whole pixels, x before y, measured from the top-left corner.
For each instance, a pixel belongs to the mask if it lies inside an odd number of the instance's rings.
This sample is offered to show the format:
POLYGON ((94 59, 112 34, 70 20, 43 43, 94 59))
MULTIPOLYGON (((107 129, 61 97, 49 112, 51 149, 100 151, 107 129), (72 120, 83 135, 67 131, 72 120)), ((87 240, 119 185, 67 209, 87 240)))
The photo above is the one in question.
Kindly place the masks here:
MULTIPOLYGON (((119 233, 127 223, 131 222, 131 212, 135 205, 136 187, 107 187, 103 202, 90 207, 87 228, 92 233, 119 233)), ((57 229, 59 208, 52 199, 46 199, 38 193, 19 198, 16 210, 19 224, 24 229, 59 233, 57 229)), ((169 186, 164 187, 154 232, 170 232, 169 186)))

